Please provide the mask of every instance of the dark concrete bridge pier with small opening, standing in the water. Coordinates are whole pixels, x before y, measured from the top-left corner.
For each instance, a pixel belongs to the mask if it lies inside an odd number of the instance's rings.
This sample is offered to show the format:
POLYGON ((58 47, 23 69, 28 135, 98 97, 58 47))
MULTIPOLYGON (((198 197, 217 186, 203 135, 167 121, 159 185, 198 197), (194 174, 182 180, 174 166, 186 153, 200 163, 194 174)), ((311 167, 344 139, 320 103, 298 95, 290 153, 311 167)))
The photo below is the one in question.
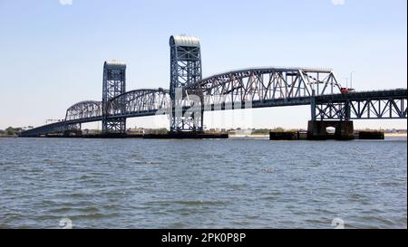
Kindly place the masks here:
POLYGON ((307 138, 312 140, 339 139, 350 140, 355 138, 353 121, 314 121, 307 127, 307 138), (335 133, 327 133, 327 128, 335 128, 335 133))

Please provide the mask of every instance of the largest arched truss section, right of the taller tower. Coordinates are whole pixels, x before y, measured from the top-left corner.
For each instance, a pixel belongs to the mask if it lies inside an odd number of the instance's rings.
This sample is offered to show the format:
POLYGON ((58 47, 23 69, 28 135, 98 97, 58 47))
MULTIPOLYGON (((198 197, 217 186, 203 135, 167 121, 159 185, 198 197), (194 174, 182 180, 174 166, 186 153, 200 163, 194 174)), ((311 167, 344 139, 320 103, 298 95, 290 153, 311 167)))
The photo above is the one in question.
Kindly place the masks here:
POLYGON ((207 103, 286 100, 341 92, 331 70, 260 68, 229 71, 188 86, 200 91, 207 103))

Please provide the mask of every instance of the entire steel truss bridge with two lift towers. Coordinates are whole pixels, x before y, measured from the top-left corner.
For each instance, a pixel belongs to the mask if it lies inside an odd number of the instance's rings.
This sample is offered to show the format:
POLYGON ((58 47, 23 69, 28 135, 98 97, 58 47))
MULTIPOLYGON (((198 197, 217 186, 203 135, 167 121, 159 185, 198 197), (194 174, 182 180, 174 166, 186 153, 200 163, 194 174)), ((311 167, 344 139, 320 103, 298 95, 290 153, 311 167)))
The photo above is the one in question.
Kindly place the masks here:
POLYGON ((171 131, 202 131, 204 111, 311 106, 311 120, 407 119, 407 90, 345 91, 335 73, 310 68, 250 68, 202 79, 199 39, 170 37, 170 89, 126 91, 126 64, 105 62, 102 101, 86 100, 65 119, 23 137, 79 130, 102 121, 104 134, 125 134, 126 119, 170 115, 171 131), (193 110, 191 110, 193 109, 193 110))

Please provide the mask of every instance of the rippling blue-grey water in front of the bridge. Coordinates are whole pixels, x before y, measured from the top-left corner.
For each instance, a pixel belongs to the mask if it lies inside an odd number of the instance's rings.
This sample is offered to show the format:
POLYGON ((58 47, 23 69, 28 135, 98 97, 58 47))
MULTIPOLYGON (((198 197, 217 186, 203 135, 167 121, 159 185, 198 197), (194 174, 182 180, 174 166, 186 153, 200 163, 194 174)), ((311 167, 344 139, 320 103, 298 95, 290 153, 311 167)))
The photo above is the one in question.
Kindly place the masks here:
POLYGON ((406 162, 406 138, 0 138, 0 228, 406 228, 406 162))

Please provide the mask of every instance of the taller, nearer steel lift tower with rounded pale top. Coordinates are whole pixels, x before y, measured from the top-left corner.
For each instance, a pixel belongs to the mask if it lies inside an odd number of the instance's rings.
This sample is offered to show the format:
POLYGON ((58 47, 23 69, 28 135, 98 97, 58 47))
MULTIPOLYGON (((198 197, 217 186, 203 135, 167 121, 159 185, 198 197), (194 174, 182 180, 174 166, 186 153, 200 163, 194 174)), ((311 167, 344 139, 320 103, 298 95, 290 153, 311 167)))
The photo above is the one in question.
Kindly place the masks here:
MULTIPOLYGON (((202 80, 201 49, 199 38, 192 36, 170 37, 170 98, 172 112, 170 131, 202 131, 203 111, 184 114, 183 101, 189 100, 186 87, 202 80)), ((199 96, 199 95, 198 95, 199 96)), ((202 104, 202 97, 200 98, 202 104)))

